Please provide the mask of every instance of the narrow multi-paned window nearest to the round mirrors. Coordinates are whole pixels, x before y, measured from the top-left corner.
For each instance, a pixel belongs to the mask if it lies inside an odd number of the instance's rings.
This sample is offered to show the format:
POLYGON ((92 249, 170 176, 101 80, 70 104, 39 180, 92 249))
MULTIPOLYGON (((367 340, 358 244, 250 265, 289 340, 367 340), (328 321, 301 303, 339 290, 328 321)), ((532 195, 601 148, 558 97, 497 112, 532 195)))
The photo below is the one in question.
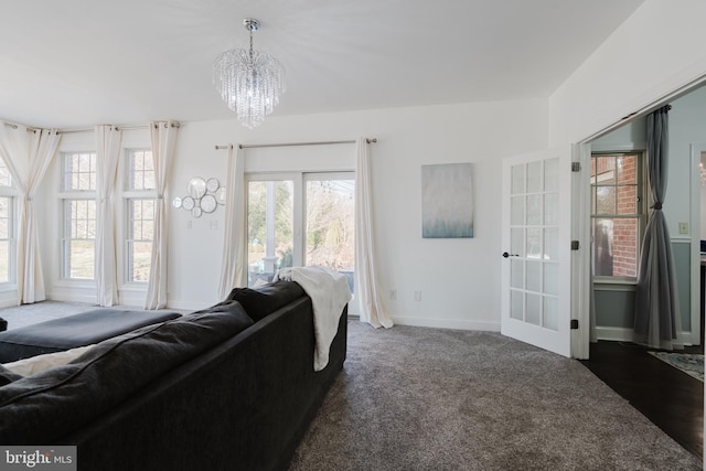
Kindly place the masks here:
POLYGON ((154 161, 151 150, 127 151, 127 281, 149 281, 154 238, 154 161))

